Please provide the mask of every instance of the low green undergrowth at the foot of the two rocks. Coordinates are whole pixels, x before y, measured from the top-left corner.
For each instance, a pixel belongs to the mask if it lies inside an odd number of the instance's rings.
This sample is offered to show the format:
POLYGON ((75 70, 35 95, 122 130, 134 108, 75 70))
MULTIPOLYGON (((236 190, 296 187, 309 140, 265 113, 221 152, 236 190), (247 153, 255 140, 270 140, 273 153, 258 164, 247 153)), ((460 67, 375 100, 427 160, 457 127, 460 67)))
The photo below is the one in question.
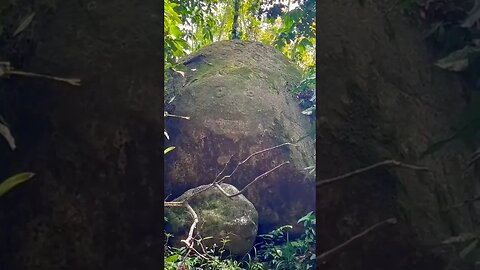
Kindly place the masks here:
MULTIPOLYGON (((259 235, 259 242, 243 258, 227 254, 225 240, 222 247, 204 247, 196 239, 201 250, 189 251, 186 247, 165 247, 165 270, 177 269, 225 269, 225 270, 309 270, 315 269, 315 215, 308 213, 298 223, 304 226, 300 238, 289 239, 288 231, 293 227, 285 225, 268 234, 259 235), (189 254, 188 256, 186 256, 189 254), (183 267, 183 268, 182 268, 183 267)), ((165 233, 166 243, 173 235, 165 233)))

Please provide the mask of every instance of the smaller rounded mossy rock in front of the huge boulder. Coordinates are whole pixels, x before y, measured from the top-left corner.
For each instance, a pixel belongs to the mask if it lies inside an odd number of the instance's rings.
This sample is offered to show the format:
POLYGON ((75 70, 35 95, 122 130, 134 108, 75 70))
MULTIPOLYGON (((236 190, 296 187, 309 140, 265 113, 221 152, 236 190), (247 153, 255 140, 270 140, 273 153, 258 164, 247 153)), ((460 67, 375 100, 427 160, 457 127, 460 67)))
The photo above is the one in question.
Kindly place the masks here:
MULTIPOLYGON (((187 190, 174 201, 182 201, 205 189, 202 185, 187 190)), ((238 192, 230 184, 221 184, 228 194, 238 192)), ((257 236, 258 213, 253 204, 243 195, 228 198, 218 188, 212 187, 195 195, 189 200, 190 206, 197 213, 199 222, 197 230, 202 238, 208 238, 202 243, 205 247, 222 247, 222 240, 228 239, 225 244, 227 253, 242 256, 250 251, 257 236), (212 238, 210 238, 212 237, 212 238)), ((188 236, 188 231, 193 223, 193 217, 185 208, 165 208, 167 218, 166 231, 174 235, 170 243, 174 247, 181 247, 181 242, 188 236)))

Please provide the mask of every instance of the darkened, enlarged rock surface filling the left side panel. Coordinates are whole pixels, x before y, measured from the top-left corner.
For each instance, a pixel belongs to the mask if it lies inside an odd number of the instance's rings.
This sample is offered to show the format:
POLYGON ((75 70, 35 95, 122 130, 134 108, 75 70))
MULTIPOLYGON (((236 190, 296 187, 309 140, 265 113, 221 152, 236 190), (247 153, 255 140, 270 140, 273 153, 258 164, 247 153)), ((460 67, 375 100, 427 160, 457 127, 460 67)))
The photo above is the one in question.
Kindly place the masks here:
POLYGON ((16 2, 1 60, 82 82, 0 81, 0 179, 36 173, 0 198, 1 268, 161 269, 161 2, 16 2))

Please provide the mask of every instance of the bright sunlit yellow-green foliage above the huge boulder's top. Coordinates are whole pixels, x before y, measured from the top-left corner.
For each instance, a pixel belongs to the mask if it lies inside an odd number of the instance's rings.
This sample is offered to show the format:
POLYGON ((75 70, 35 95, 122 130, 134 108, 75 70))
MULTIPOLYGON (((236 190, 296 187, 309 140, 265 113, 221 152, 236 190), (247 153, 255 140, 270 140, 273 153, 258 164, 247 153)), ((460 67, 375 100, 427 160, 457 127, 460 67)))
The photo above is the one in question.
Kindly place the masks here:
MULTIPOLYGON (((230 39, 234 9, 225 0, 164 0, 166 68, 186 52, 215 41, 230 39)), ((299 1, 288 10, 268 7, 260 0, 245 0, 239 8, 239 36, 272 45, 299 66, 315 67, 315 1, 299 1)))

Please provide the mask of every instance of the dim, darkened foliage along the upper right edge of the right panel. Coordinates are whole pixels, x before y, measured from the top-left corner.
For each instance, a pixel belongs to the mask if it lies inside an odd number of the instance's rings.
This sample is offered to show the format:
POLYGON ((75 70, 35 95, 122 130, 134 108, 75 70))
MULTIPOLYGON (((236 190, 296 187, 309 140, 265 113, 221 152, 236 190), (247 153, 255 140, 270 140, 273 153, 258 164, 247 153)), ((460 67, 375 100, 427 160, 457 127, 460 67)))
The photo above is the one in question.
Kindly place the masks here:
MULTIPOLYGON (((417 18, 430 25, 425 37, 440 55, 435 66, 459 73, 472 90, 480 90, 480 0, 475 0, 473 6, 460 0, 433 0, 423 4, 415 0, 403 1, 409 2, 409 8, 416 11, 417 18)), ((477 94, 472 93, 474 95, 477 94)), ((457 131, 433 143, 422 157, 456 139, 471 143, 480 132, 479 104, 472 99, 471 109, 465 119, 461 119, 463 123, 457 131)))

